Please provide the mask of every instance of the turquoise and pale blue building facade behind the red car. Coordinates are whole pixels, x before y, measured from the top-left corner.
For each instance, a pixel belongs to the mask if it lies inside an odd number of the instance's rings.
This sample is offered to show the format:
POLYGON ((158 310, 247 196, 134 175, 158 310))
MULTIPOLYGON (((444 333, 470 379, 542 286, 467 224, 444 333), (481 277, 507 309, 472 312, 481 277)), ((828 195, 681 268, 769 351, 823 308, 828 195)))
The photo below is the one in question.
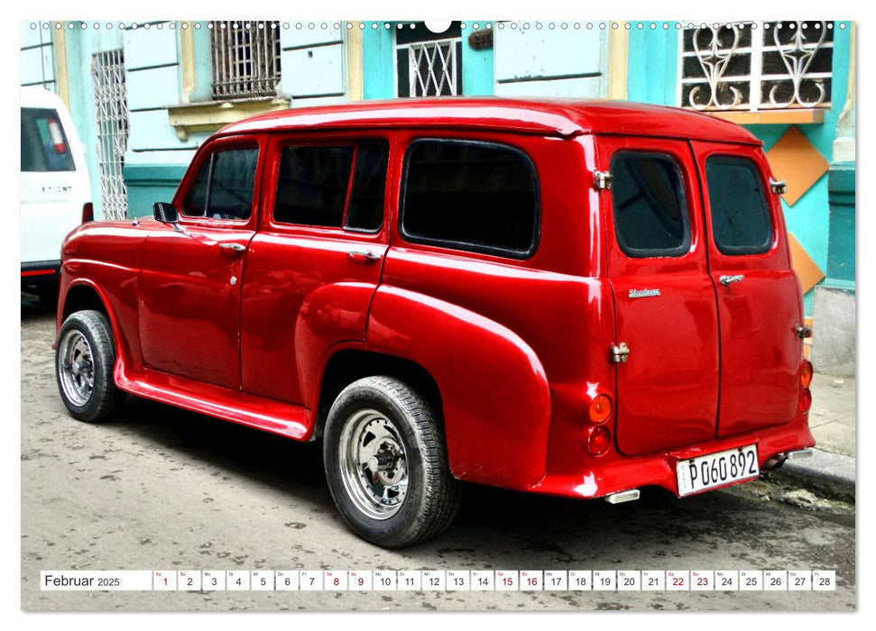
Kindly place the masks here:
POLYGON ((151 215, 244 116, 414 96, 684 106, 741 123, 788 184, 816 369, 854 370, 853 23, 25 22, 22 85, 56 91, 98 217, 151 215), (819 343, 818 341, 823 341, 819 343))

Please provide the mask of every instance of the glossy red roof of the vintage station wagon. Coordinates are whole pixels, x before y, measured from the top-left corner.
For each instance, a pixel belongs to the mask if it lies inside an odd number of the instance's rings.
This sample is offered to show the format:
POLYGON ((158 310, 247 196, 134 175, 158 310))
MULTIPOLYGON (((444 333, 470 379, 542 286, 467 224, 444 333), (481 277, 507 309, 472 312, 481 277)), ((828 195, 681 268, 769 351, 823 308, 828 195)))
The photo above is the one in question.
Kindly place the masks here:
POLYGON ((439 97, 293 107, 231 123, 218 135, 365 128, 471 128, 559 137, 622 134, 761 144, 709 114, 630 101, 439 97))

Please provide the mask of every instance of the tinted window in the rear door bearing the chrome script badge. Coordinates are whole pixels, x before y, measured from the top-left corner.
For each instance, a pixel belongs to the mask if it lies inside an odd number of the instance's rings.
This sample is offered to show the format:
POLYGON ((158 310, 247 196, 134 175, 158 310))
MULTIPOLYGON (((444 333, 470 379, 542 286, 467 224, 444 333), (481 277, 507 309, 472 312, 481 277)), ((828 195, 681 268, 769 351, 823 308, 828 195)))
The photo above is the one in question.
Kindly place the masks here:
POLYGON ((612 158, 614 230, 635 258, 683 256, 690 250, 681 171, 659 153, 623 152, 612 158))

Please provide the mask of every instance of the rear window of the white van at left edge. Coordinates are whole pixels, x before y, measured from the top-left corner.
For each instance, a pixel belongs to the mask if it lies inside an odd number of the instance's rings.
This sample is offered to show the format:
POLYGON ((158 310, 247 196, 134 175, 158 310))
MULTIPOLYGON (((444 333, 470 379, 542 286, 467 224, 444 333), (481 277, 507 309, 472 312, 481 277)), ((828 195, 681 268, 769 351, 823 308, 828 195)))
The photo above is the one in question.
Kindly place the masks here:
POLYGON ((67 135, 55 110, 22 108, 22 170, 74 170, 67 135))

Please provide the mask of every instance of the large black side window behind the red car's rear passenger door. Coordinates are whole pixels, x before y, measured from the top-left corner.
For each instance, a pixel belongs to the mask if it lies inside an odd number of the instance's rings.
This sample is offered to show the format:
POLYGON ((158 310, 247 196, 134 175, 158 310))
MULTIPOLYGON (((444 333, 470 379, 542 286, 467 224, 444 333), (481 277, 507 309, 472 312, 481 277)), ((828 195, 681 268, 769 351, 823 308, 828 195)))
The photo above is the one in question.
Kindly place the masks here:
POLYGON ((413 142, 400 221, 410 242, 528 258, 539 239, 535 166, 492 142, 413 142))

